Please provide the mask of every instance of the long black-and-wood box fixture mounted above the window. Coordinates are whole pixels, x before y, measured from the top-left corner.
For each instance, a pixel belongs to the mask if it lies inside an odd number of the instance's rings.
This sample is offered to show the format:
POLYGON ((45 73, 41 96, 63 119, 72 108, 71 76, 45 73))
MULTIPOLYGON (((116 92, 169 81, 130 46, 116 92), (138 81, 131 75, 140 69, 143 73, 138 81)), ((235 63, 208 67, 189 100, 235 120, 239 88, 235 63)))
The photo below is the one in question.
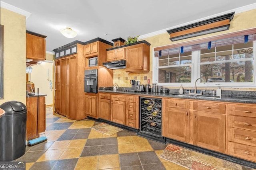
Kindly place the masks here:
POLYGON ((167 32, 170 34, 171 41, 196 37, 209 33, 228 30, 230 21, 233 19, 235 12, 210 18, 208 20, 192 23, 190 25, 169 29, 167 32))

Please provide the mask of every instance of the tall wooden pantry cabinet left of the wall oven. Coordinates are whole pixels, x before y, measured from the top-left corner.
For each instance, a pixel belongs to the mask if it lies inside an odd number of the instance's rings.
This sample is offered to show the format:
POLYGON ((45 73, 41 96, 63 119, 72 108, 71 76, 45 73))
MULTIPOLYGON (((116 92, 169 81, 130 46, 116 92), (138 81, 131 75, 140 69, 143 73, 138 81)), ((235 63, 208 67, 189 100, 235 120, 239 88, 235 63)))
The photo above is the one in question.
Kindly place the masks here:
POLYGON ((84 114, 84 45, 76 44, 76 47, 76 54, 55 61, 55 111, 70 119, 81 120, 86 118, 84 114))

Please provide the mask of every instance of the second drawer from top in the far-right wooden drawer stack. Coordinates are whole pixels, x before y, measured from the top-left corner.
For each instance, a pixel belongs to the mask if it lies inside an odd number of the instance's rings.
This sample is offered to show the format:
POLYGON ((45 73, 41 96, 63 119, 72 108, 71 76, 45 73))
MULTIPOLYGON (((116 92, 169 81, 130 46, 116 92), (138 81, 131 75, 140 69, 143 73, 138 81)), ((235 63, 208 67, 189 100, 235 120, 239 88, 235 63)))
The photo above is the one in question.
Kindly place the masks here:
POLYGON ((229 115, 228 127, 256 132, 256 118, 229 115))

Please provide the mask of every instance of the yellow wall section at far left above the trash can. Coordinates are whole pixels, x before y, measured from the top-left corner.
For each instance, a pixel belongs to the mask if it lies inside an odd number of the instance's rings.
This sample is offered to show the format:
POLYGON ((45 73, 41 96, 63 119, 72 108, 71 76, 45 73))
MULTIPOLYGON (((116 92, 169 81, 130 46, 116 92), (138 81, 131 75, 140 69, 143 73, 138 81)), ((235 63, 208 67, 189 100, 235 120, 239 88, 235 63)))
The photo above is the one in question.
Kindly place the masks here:
POLYGON ((1 8, 4 25, 4 99, 26 104, 26 17, 1 8))

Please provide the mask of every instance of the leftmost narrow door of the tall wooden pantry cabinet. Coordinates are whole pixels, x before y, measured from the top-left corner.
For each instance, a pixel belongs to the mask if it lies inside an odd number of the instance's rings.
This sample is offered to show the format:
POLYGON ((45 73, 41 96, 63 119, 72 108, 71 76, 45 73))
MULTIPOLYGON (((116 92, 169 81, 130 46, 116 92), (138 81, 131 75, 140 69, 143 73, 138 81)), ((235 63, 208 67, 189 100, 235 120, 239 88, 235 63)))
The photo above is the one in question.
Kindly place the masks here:
POLYGON ((56 61, 56 66, 55 66, 55 77, 56 77, 56 82, 55 82, 55 107, 56 107, 56 113, 60 113, 61 111, 61 72, 60 72, 60 61, 56 61))

